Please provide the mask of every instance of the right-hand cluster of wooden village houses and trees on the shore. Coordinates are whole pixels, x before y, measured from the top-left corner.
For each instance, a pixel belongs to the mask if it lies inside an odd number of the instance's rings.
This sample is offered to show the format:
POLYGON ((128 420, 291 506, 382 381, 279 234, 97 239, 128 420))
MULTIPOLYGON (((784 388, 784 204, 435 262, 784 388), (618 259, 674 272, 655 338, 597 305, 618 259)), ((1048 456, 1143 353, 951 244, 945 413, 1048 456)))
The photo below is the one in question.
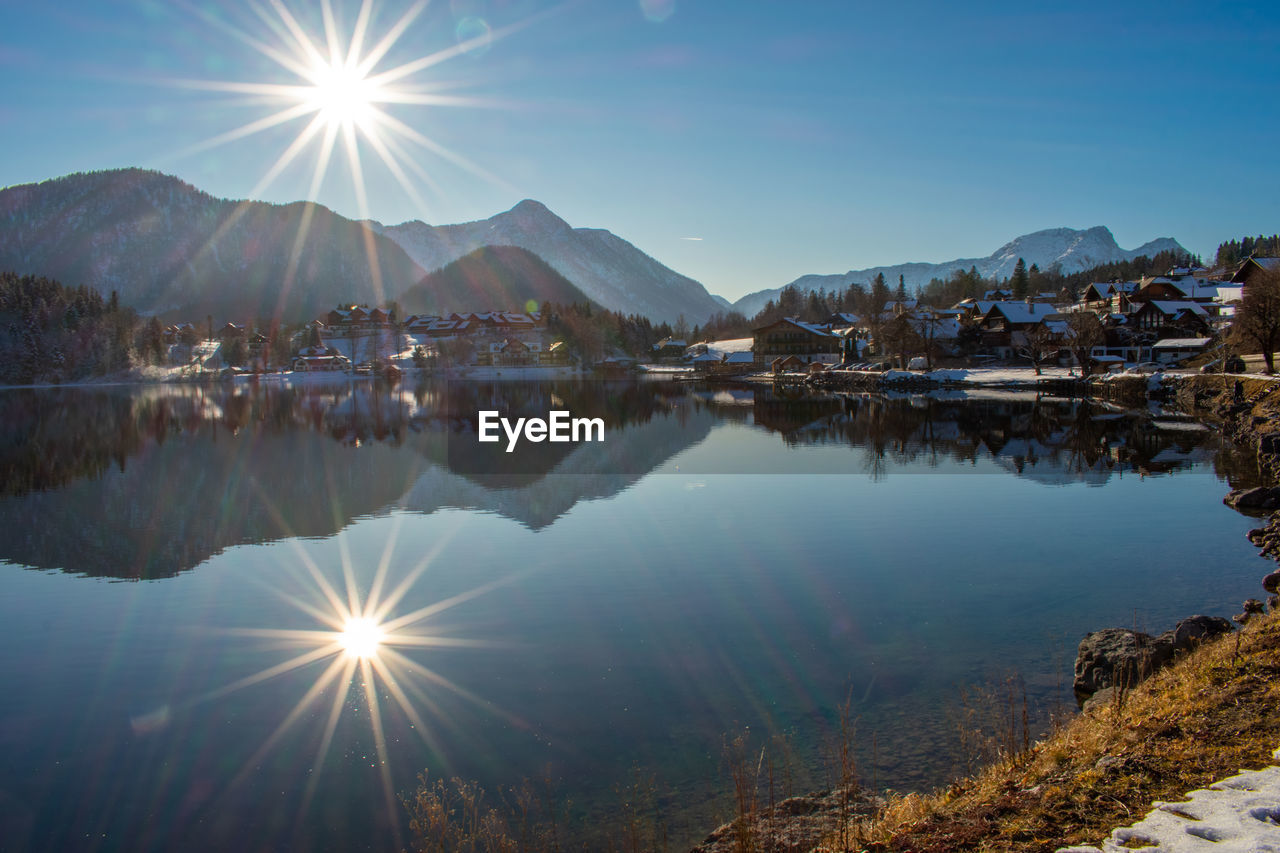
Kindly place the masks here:
POLYGON ((730 341, 668 338, 654 346, 654 359, 712 377, 1010 365, 1037 375, 1042 366, 1088 375, 1149 373, 1213 352, 1208 366, 1243 373, 1243 360, 1225 352, 1228 332, 1244 288, 1277 269, 1280 257, 1249 257, 1222 278, 1181 266, 1140 280, 1094 282, 1075 298, 1061 292, 1019 300, 993 289, 948 309, 895 298, 876 316, 783 318, 730 341))

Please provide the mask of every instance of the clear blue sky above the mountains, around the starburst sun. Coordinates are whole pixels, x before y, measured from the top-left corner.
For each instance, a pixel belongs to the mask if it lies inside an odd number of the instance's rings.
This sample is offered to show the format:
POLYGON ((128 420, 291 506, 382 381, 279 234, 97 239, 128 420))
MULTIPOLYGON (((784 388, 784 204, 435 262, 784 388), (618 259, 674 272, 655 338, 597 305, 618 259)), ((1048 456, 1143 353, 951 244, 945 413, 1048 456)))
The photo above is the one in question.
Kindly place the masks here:
MULTIPOLYGON (((308 197, 328 120, 261 186, 316 117, 266 55, 302 53, 282 8, 328 56, 319 3, 0 0, 0 186, 137 165, 308 197)), ((372 3, 357 53, 411 9, 372 3)), ((333 0, 340 47, 360 20, 333 0)), ((728 298, 1060 225, 1203 255, 1280 231, 1274 3, 433 0, 370 76, 439 51, 378 90, 429 101, 374 105, 413 138, 357 113, 365 197, 338 129, 317 201, 443 224, 538 199, 728 298)), ((340 86, 330 117, 369 91, 340 86)))

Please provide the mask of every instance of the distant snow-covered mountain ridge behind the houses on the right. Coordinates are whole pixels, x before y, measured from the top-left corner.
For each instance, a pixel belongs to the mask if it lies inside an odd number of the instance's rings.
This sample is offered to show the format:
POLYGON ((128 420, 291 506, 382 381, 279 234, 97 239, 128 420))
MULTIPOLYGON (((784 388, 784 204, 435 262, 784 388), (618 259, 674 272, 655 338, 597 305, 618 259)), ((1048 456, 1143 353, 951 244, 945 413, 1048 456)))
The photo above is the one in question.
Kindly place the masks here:
MULTIPOLYGON (((1037 264, 1042 270, 1051 270, 1055 266, 1062 273, 1079 273, 1082 270, 1110 264, 1112 261, 1133 260, 1139 255, 1155 255, 1161 251, 1179 251, 1188 254, 1176 240, 1161 237, 1138 248, 1120 248, 1111 231, 1097 225, 1085 231, 1074 228, 1050 228, 1037 231, 1032 234, 1023 234, 986 257, 960 257, 943 264, 897 264, 896 266, 872 266, 869 269, 849 270, 837 275, 801 275, 791 282, 792 287, 801 291, 827 291, 845 289, 852 283, 869 286, 878 273, 884 274, 884 280, 890 288, 897 287, 897 277, 901 275, 909 288, 924 286, 932 278, 947 278, 957 269, 966 270, 977 268, 983 278, 1005 279, 1014 272, 1014 265, 1021 257, 1027 265, 1037 264)), ((776 300, 782 288, 758 291, 748 293, 733 304, 735 311, 741 311, 746 316, 754 316, 764 304, 776 300)))

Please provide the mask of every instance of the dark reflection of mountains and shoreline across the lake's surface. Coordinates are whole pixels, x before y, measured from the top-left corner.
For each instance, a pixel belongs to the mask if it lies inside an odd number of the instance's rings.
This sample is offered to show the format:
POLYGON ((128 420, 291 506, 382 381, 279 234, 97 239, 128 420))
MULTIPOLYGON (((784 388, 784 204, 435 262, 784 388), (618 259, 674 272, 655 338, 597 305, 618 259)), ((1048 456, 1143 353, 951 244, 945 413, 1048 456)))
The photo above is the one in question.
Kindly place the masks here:
MULTIPOLYGON (((847 444, 886 476, 993 460, 1047 483, 1101 483, 1248 460, 1176 416, 1027 392, 883 396, 672 383, 370 382, 15 389, 0 393, 0 558, 111 578, 165 578, 223 549, 328 537, 396 508, 494 512, 532 529, 607 498, 717 424, 791 447, 847 444), (475 441, 476 412, 600 418, 603 443, 475 441)), ((731 471, 703 471, 731 473, 731 471)))

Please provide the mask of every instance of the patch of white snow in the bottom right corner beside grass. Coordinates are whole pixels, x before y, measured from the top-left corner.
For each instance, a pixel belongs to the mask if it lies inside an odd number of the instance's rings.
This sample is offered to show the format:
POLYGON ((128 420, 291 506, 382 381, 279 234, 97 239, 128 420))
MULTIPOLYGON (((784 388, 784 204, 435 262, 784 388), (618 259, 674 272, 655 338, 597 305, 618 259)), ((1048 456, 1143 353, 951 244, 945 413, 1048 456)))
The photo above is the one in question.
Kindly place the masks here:
MULTIPOLYGON (((1280 749, 1272 753, 1280 761, 1280 749)), ((1121 826, 1102 847, 1065 847, 1059 853, 1128 853, 1135 845, 1160 853, 1280 850, 1280 767, 1247 770, 1187 802, 1156 802, 1133 826, 1121 826)))

